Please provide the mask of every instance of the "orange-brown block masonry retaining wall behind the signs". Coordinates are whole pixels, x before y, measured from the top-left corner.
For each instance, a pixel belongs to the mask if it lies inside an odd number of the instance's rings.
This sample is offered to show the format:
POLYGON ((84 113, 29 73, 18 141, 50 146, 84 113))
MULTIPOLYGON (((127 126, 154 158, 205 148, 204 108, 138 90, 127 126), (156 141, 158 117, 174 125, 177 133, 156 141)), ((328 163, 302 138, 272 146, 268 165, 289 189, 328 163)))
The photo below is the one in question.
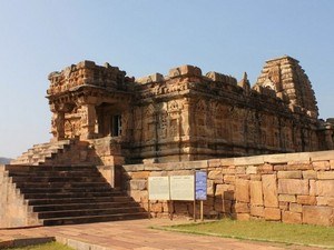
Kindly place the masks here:
MULTIPOLYGON (((334 151, 124 167, 125 189, 148 207, 148 177, 208 173, 206 218, 334 226, 334 151)), ((150 201, 153 217, 193 216, 193 202, 150 201)), ((198 209, 197 209, 198 210, 198 209)))

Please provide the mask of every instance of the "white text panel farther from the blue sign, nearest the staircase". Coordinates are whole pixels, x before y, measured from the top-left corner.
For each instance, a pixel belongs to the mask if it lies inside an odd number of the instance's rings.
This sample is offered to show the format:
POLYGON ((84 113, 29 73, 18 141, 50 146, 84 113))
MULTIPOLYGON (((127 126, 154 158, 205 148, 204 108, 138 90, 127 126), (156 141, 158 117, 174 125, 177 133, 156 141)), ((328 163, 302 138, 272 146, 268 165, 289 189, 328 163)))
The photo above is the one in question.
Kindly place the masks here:
POLYGON ((148 199, 169 200, 169 178, 149 177, 148 178, 148 199))

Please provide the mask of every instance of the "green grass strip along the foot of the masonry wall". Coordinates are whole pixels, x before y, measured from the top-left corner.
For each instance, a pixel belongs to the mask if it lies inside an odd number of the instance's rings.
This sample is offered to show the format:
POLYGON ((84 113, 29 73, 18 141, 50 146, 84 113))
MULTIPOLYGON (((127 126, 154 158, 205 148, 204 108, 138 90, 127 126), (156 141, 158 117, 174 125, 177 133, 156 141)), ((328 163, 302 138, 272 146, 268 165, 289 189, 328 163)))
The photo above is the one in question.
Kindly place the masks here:
POLYGON ((289 244, 322 246, 334 249, 334 228, 311 224, 285 224, 269 221, 215 222, 166 227, 167 230, 289 244))

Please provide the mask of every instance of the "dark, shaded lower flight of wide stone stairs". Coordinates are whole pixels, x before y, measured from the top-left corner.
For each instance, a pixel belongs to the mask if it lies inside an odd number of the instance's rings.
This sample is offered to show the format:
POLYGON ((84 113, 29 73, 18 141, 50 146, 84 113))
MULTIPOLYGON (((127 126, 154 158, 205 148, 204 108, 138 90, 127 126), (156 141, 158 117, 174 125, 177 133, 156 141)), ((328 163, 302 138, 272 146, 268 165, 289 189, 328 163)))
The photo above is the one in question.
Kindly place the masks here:
POLYGON ((30 212, 43 226, 147 218, 147 212, 112 189, 92 166, 6 166, 30 212))

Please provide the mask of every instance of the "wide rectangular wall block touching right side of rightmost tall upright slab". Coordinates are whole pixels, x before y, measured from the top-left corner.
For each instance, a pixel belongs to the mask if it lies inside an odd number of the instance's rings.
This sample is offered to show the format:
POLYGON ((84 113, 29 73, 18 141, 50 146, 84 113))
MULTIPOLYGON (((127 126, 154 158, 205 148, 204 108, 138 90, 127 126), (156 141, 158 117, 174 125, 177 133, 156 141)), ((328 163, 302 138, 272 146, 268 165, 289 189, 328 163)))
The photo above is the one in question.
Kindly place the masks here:
POLYGON ((308 194, 308 180, 279 179, 278 193, 308 194))

